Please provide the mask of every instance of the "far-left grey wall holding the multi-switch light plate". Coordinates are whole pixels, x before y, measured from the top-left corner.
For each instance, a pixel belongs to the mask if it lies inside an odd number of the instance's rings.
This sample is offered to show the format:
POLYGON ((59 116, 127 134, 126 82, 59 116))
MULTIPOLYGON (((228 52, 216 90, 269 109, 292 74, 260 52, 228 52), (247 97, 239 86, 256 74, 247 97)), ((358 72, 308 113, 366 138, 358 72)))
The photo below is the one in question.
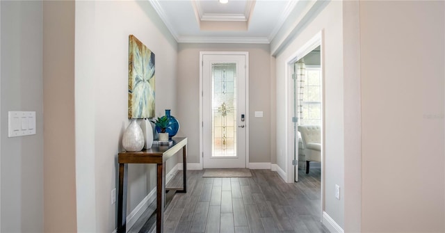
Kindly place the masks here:
POLYGON ((1 232, 43 232, 42 2, 1 1, 1 232), (8 111, 36 134, 8 138, 8 111))

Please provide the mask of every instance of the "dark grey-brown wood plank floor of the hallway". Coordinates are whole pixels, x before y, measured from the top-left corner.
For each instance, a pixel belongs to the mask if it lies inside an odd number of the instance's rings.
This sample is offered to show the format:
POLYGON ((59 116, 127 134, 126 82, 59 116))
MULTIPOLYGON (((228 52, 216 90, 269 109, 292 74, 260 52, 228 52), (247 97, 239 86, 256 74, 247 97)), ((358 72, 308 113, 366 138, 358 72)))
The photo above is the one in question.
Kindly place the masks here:
MULTIPOLYGON (((321 225, 320 169, 299 171, 286 184, 270 170, 252 177, 202 177, 187 171, 187 193, 177 193, 165 209, 164 232, 327 232, 321 225)), ((167 186, 181 186, 182 172, 167 186)), ((150 207, 149 209, 153 209, 150 207)), ((147 210, 129 232, 151 232, 147 210)))

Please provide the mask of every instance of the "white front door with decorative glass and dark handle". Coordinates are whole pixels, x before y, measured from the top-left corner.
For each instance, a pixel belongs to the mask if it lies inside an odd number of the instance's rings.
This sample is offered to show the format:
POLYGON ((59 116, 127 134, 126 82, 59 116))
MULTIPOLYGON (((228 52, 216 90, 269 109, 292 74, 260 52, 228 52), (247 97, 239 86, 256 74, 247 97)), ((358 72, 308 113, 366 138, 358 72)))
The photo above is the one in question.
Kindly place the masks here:
POLYGON ((245 168, 248 53, 200 55, 203 168, 245 168))

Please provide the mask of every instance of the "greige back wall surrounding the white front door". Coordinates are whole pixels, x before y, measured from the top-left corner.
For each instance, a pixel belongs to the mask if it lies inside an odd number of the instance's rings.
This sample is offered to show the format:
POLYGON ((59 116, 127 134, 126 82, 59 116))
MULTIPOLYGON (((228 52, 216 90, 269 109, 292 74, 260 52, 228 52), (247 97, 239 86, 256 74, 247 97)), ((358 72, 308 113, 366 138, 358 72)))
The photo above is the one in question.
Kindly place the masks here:
POLYGON ((270 95, 269 45, 260 44, 193 44, 178 46, 178 120, 179 134, 188 137, 188 163, 200 163, 200 51, 249 52, 249 162, 270 163, 272 103, 270 95), (263 118, 254 118, 263 111, 263 118))

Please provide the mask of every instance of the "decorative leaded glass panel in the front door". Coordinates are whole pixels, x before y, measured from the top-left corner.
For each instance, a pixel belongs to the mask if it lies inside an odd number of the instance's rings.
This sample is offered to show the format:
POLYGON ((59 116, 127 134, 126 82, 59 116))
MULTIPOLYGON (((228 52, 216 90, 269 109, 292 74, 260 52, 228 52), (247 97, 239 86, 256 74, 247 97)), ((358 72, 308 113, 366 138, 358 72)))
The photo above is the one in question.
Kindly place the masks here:
POLYGON ((212 156, 236 156, 236 63, 212 63, 212 156))

